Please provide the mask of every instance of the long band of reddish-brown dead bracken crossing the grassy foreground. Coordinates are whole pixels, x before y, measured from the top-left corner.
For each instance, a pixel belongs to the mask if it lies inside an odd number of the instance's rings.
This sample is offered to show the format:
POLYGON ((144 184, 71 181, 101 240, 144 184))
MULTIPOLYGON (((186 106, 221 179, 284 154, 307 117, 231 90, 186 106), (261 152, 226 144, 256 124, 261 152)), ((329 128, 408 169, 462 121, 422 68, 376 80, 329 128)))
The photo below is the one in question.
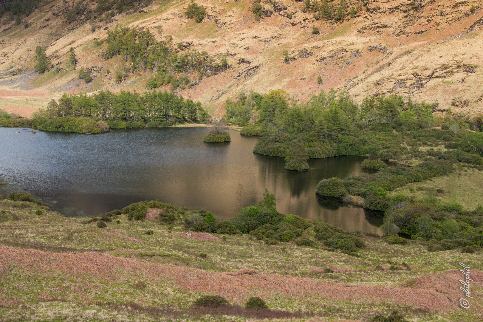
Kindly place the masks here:
MULTIPOLYGON (((459 286, 456 276, 458 271, 455 270, 431 275, 425 274, 413 283, 407 282, 408 284, 399 285, 399 287, 355 286, 326 281, 317 282, 279 274, 239 274, 235 272, 237 275, 228 275, 187 267, 150 264, 99 252, 51 253, 0 246, 0 267, 6 266, 14 266, 23 271, 35 269, 40 273, 50 273, 54 270, 69 275, 88 275, 111 281, 123 279, 122 275, 116 273, 122 270, 133 276, 142 274, 151 280, 172 279, 178 287, 185 290, 220 294, 230 300, 236 298, 238 301, 253 295, 267 298, 273 293, 298 299, 312 294, 327 299, 345 301, 371 299, 383 303, 404 304, 432 312, 446 312, 449 309, 457 308, 458 296, 461 295, 457 288, 459 286)), ((474 285, 481 287, 483 272, 472 271, 472 274, 474 285)), ((471 309, 481 308, 476 305, 475 301, 475 305, 471 309)))

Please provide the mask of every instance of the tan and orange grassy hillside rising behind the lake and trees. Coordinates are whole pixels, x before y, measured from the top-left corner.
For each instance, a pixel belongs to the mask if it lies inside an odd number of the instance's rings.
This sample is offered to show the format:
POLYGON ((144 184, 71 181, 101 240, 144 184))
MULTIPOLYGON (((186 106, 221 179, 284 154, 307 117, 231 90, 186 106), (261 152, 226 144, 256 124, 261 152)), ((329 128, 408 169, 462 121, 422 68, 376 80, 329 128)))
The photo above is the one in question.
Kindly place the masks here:
MULTIPOLYGON (((21 95, 9 95, 7 89, 42 89, 43 97, 44 91, 52 97, 64 91, 144 91, 156 68, 133 70, 132 61, 122 55, 106 59, 105 42, 94 42, 105 39, 107 31, 119 25, 148 29, 157 42, 176 52, 206 51, 213 63, 221 63, 226 56, 226 70, 205 75, 194 87, 176 90, 185 98, 201 101, 215 116, 221 116, 225 100, 240 91, 282 88, 304 101, 331 87, 348 90, 357 101, 397 93, 417 100, 437 100, 440 104, 435 108, 441 112, 449 107, 457 113, 481 112, 482 2, 369 1, 363 8, 362 2, 350 1, 347 13, 352 7, 363 10, 334 24, 332 20, 316 20, 313 12, 303 13, 300 1, 262 1, 265 10, 259 20, 252 13, 251 1, 197 1, 207 15, 196 23, 184 15, 188 0, 160 0, 92 24, 94 19, 87 20, 87 14, 68 23, 66 13, 75 3, 55 0, 25 18, 26 24, 15 26, 12 21, 1 27, 0 108, 29 110, 20 108, 24 106, 32 108, 31 113, 46 104, 45 98, 38 105, 26 98, 18 101, 21 95), (320 30, 318 35, 312 34, 313 27, 320 30), (35 47, 39 45, 46 46, 55 66, 43 74, 33 72, 35 47), (75 70, 68 63, 70 47, 79 61, 75 70), (114 71, 123 66, 130 70, 121 83, 115 83, 114 71), (24 71, 11 76, 19 68, 24 71), (94 80, 89 84, 78 80, 79 69, 89 71, 94 80), (318 76, 322 84, 317 84, 318 76)), ((96 6, 96 2, 89 2, 86 12, 95 14, 96 6)), ((196 71, 188 76, 191 81, 198 80, 196 71)))

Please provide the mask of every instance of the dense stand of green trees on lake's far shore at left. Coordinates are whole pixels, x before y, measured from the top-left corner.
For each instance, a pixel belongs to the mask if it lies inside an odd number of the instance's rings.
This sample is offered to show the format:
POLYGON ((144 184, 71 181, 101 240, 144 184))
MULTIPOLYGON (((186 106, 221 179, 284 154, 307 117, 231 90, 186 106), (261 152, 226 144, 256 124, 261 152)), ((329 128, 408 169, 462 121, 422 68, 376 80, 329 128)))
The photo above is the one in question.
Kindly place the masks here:
MULTIPOLYGON (((86 75, 81 70, 79 77, 86 75)), ((184 100, 166 91, 146 92, 143 95, 100 91, 92 96, 63 94, 58 104, 55 101, 49 103, 46 111, 34 113, 31 120, 3 122, 3 118, 0 118, 0 125, 36 126, 46 131, 101 133, 110 128, 144 127, 144 122, 155 122, 156 125, 159 122, 160 126, 171 126, 178 122, 199 123, 207 115, 199 102, 184 100)))

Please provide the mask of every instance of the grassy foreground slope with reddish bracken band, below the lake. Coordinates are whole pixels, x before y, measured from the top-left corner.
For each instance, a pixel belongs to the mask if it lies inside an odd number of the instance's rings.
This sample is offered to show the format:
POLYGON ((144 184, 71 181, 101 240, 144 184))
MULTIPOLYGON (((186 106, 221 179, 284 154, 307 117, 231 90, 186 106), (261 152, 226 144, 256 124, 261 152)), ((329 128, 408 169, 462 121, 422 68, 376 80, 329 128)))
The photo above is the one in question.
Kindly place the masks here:
POLYGON ((156 209, 139 221, 111 217, 101 229, 31 202, 5 199, 0 208, 3 321, 158 321, 167 304, 173 321, 253 320, 253 312, 191 307, 202 294, 233 305, 260 296, 285 311, 280 321, 368 321, 394 309, 412 321, 475 321, 483 309, 481 254, 427 252, 424 241, 365 237, 367 247, 354 257, 322 243, 188 236, 177 221, 161 224, 156 209), (458 306, 459 262, 474 280, 469 310, 458 306))

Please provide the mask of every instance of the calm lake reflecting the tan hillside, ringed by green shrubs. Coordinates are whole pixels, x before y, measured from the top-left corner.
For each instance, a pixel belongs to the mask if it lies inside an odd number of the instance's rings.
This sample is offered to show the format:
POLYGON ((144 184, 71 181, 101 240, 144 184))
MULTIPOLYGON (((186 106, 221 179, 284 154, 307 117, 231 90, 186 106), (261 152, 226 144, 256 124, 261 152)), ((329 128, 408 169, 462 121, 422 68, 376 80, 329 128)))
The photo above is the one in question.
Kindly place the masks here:
POLYGON ((30 130, 0 127, 0 176, 11 182, 0 185, 0 194, 24 189, 66 215, 97 216, 157 198, 229 219, 240 182, 249 205, 267 188, 282 213, 368 232, 382 224, 378 213, 315 194, 321 179, 363 172, 365 156, 312 159, 310 171, 293 172, 284 168, 284 158, 254 154, 258 138, 236 131, 229 143, 204 143, 206 127, 96 135, 30 130))

